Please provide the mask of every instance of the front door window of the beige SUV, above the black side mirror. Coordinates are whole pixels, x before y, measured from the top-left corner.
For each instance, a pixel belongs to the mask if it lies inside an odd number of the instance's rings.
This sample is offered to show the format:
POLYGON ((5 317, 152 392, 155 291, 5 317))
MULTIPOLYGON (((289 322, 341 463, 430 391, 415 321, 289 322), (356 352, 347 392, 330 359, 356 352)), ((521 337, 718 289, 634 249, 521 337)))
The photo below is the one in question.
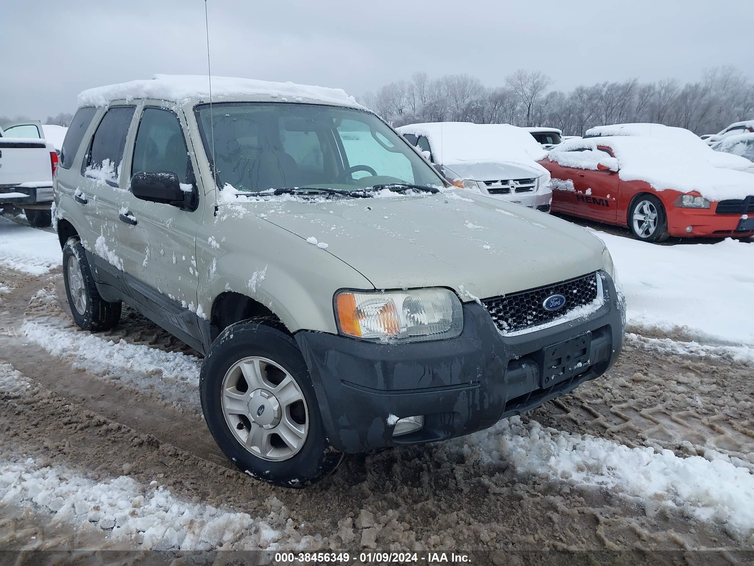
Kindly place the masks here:
POLYGON ((144 110, 133 145, 131 174, 143 171, 175 173, 180 183, 192 183, 189 150, 178 117, 170 110, 144 110))

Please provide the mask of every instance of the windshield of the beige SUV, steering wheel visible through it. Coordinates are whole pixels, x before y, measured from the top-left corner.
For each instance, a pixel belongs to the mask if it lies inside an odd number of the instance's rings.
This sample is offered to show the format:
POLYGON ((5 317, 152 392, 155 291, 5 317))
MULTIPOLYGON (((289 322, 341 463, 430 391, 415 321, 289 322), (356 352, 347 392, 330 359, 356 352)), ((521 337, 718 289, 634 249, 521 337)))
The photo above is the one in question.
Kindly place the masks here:
POLYGON ((313 187, 353 191, 408 183, 443 186, 438 174, 371 112, 298 103, 195 108, 220 187, 249 192, 313 187), (213 143, 210 131, 214 130, 213 143), (214 161, 214 163, 213 163, 214 161))

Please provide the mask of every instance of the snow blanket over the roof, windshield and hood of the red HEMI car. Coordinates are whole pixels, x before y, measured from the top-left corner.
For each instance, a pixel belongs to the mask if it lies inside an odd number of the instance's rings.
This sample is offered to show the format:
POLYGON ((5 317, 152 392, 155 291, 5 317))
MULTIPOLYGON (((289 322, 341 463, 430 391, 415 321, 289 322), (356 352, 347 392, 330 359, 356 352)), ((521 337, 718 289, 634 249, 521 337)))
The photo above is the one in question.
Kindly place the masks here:
POLYGON ((658 191, 695 191, 710 201, 754 195, 751 174, 716 168, 710 161, 699 159, 694 152, 688 152, 685 147, 669 140, 624 136, 572 140, 556 146, 549 158, 564 167, 596 169, 598 162, 610 159, 604 152, 599 152, 597 146, 613 150, 620 168, 618 175, 624 181, 645 181, 658 191), (572 151, 584 147, 591 151, 572 151))

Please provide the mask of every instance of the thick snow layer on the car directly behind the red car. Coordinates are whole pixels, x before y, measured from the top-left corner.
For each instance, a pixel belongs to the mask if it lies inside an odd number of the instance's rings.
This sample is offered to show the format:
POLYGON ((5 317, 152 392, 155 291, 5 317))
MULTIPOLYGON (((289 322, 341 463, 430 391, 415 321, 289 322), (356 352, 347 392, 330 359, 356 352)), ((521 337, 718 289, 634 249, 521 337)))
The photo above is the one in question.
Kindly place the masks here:
POLYGON ((740 155, 713 151, 709 144, 705 143, 697 134, 685 128, 651 123, 613 124, 590 128, 586 135, 587 138, 605 136, 639 136, 666 140, 676 146, 677 149, 688 153, 690 157, 703 159, 713 167, 722 169, 746 171, 751 166, 751 163, 740 155))

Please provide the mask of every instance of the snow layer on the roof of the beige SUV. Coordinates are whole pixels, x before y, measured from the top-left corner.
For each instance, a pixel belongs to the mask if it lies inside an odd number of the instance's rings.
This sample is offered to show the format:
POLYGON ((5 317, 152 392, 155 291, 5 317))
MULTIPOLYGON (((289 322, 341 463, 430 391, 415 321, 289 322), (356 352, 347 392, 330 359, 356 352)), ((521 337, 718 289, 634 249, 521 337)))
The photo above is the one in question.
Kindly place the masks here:
MULTIPOLYGON (((191 100, 207 99, 209 96, 210 81, 207 75, 155 75, 155 78, 150 80, 90 88, 78 95, 78 106, 107 106, 115 100, 138 98, 187 103, 191 100)), ((362 108, 354 97, 340 88, 218 76, 212 77, 212 100, 318 102, 362 108)))

